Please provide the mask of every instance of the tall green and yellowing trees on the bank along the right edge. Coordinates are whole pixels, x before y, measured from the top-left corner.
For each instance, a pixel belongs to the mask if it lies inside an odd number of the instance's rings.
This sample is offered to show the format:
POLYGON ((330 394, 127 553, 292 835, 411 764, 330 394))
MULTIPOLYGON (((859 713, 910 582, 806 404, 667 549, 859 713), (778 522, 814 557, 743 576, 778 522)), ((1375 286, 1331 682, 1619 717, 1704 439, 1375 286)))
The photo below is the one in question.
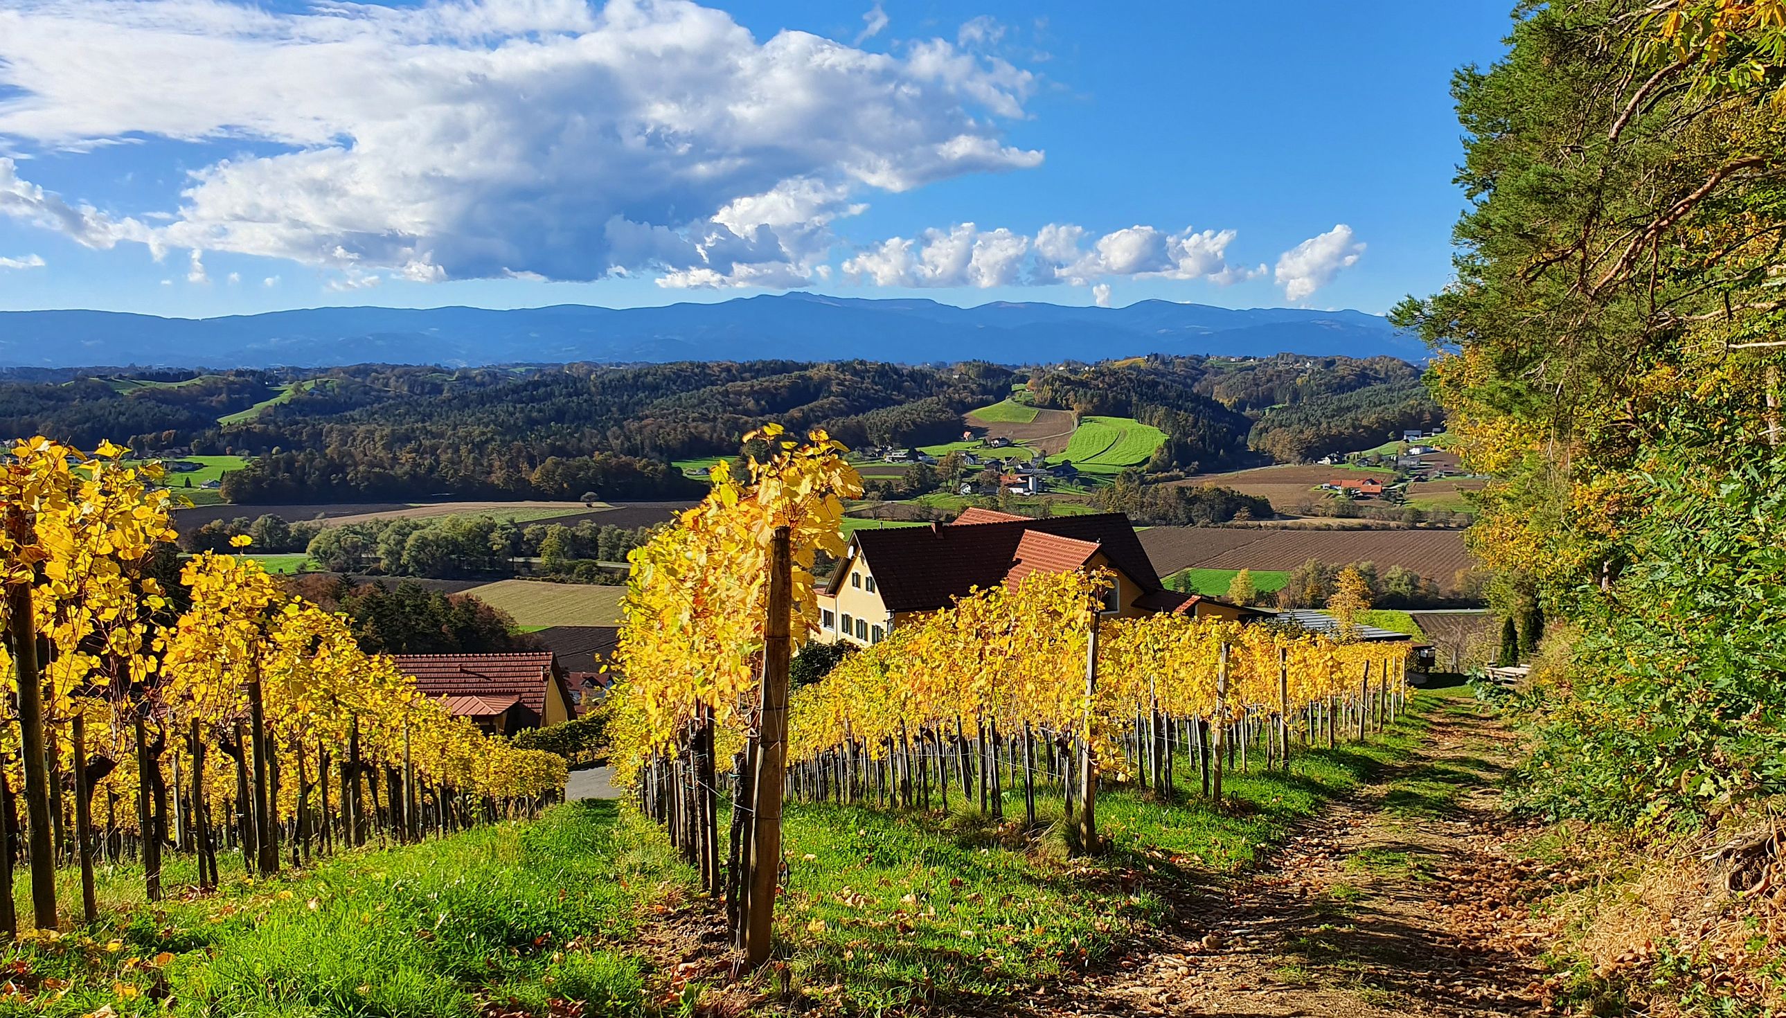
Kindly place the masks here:
POLYGON ((1461 350, 1438 395, 1495 475, 1468 539, 1550 618, 1516 793, 1636 838, 1575 902, 1572 1009, 1777 1013, 1786 9, 1522 11, 1456 79, 1459 279, 1393 318, 1461 350))

